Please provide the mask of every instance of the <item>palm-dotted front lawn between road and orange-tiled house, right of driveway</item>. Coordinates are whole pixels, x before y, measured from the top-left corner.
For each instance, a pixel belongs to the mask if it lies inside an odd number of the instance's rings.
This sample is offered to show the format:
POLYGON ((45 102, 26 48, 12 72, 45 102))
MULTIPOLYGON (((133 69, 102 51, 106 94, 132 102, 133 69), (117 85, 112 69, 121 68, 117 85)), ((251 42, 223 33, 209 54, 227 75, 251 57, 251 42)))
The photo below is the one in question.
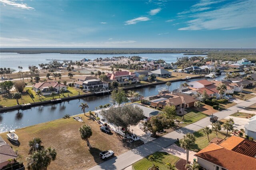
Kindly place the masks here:
MULTIPOLYGON (((209 141, 208 141, 207 135, 204 134, 202 129, 198 130, 197 132, 194 132, 193 134, 196 137, 196 142, 195 142, 194 145, 191 146, 190 150, 198 152, 198 151, 202 150, 203 148, 205 148, 206 146, 209 145, 209 141)), ((212 140, 212 138, 215 138, 215 137, 216 137, 216 132, 212 131, 212 133, 209 134, 209 139, 212 140)), ((226 132, 218 132, 218 138, 224 139, 225 137, 226 137, 226 132)), ((180 140, 180 142, 181 142, 181 140, 180 140)), ((180 146, 180 143, 178 141, 175 142, 175 144, 180 146)))

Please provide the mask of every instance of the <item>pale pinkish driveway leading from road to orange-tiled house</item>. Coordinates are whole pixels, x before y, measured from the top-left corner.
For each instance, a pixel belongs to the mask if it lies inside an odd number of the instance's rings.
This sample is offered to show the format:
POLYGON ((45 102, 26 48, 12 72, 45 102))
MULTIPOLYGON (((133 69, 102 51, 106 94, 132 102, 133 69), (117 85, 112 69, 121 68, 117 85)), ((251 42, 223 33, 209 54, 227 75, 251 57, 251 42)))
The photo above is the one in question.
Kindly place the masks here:
MULTIPOLYGON (((163 148, 162 150, 160 150, 160 152, 167 152, 168 154, 172 154, 174 156, 187 160, 186 150, 177 146, 176 144, 167 146, 166 148, 163 148)), ((196 158, 194 154, 196 154, 196 152, 193 152, 191 150, 189 151, 188 161, 190 162, 194 161, 193 159, 196 158)))

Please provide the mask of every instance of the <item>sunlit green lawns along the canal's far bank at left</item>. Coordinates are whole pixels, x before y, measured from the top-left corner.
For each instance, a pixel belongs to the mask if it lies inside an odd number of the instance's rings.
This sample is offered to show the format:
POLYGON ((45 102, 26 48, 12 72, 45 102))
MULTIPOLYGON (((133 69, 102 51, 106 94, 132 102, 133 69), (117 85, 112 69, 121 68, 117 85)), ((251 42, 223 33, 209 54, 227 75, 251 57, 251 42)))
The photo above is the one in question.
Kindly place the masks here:
MULTIPOLYGON (((33 98, 34 101, 33 99, 31 99, 28 93, 22 92, 22 98, 19 99, 19 103, 34 103, 38 101, 52 100, 52 97, 50 97, 50 95, 42 96, 40 97, 40 100, 39 100, 38 96, 36 96, 36 92, 33 91, 31 88, 32 87, 26 87, 24 91, 26 91, 26 89, 30 89, 30 91, 32 91, 32 93, 34 94, 34 98, 33 98)), ((78 92, 80 92, 80 95, 85 94, 81 89, 77 89, 75 87, 67 87, 67 91, 64 93, 64 96, 67 97, 68 94, 69 96, 75 96, 75 95, 78 95, 78 92)), ((12 91, 12 93, 15 93, 15 91, 12 91)), ((17 105, 16 99, 12 99, 12 93, 10 93, 9 95, 4 94, 0 96, 0 101, 2 106, 9 107, 9 106, 17 105)), ((59 98, 63 98, 64 96, 62 94, 56 94, 55 98, 59 99, 59 98)))

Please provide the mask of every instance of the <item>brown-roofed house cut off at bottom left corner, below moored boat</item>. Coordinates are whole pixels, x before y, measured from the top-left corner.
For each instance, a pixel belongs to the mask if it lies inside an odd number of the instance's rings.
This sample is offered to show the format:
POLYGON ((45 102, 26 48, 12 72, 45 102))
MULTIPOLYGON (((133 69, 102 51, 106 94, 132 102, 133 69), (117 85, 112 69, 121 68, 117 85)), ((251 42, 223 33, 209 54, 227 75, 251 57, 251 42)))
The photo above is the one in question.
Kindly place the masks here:
POLYGON ((18 155, 14 152, 14 150, 7 144, 3 138, 0 136, 0 170, 8 165, 12 160, 11 163, 14 163, 14 159, 16 159, 18 155))

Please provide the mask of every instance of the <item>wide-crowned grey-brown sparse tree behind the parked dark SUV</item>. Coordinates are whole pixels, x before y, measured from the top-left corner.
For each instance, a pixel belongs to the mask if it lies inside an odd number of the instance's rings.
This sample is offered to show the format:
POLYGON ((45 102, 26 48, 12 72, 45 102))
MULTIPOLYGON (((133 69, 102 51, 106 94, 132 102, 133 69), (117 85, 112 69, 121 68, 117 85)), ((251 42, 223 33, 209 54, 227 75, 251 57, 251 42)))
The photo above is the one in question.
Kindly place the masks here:
POLYGON ((144 119, 143 110, 138 106, 133 107, 132 105, 117 108, 110 107, 108 110, 103 109, 100 114, 109 123, 125 129, 129 126, 137 125, 144 119))

